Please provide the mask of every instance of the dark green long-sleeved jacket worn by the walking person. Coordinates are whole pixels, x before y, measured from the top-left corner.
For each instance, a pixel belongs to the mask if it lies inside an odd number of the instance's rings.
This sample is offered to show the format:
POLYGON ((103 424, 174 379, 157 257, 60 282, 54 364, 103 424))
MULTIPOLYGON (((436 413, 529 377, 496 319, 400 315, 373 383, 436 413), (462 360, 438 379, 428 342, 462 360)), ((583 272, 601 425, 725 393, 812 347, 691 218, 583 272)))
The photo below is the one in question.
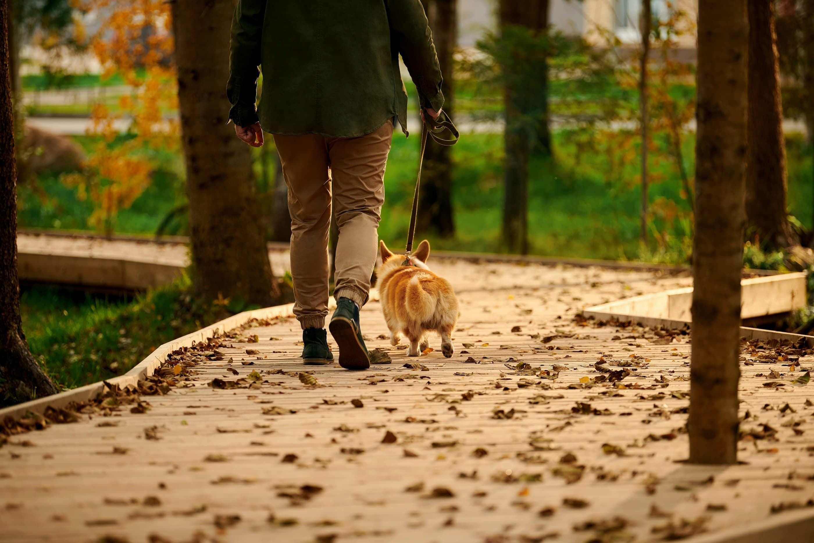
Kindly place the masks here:
POLYGON ((271 134, 352 138, 396 117, 407 134, 399 55, 422 107, 440 111, 443 80, 420 0, 239 0, 229 118, 247 126, 259 115, 271 134))

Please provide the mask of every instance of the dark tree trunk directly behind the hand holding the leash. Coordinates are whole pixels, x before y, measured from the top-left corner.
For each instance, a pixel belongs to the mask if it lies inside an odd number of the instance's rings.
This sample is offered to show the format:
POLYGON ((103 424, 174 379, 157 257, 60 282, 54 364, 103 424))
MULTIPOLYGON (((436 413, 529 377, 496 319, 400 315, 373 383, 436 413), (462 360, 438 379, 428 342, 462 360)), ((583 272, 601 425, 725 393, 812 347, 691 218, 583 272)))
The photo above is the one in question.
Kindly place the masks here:
MULTIPOLYGON (((422 0, 432 29, 432 39, 441 73, 444 74, 444 112, 453 113, 453 50, 457 35, 457 0, 422 0)), ((418 231, 441 238, 455 234, 453 215, 452 147, 431 140, 424 151, 421 192, 418 204, 418 231)))

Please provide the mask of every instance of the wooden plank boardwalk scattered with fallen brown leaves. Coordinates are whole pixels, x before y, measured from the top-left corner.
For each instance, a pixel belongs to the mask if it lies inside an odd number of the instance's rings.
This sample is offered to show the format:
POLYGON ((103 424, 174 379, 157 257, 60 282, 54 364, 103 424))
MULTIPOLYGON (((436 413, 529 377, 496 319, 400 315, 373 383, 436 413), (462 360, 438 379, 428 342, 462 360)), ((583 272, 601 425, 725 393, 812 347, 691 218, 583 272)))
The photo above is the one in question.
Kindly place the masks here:
POLYGON ((814 497, 814 384, 790 383, 810 351, 745 346, 742 464, 688 466, 689 337, 574 319, 688 278, 433 268, 461 302, 451 359, 392 348, 375 301, 392 363, 365 372, 303 366, 293 319, 253 323, 142 408, 11 436, 0 541, 663 541, 814 497))

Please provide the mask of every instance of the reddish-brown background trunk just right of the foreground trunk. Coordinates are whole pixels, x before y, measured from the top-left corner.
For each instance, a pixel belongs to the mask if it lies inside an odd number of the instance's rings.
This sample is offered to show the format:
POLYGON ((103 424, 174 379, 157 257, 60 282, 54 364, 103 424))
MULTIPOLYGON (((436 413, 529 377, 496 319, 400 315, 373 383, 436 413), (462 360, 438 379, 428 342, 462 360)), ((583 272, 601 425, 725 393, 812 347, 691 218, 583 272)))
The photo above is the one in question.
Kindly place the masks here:
POLYGON ((786 210, 786 142, 772 0, 751 0, 749 13, 749 153, 747 232, 761 244, 799 243, 786 210))

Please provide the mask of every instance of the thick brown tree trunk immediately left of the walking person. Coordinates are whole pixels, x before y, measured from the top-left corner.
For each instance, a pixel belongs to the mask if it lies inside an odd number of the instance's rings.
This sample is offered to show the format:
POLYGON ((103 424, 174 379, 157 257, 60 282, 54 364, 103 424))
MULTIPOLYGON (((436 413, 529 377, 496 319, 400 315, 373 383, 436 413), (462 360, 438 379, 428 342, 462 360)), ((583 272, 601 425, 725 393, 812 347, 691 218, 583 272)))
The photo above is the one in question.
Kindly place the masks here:
POLYGON ((193 282, 202 296, 272 305, 279 289, 260 222, 251 150, 226 125, 233 11, 232 0, 173 2, 193 282))

